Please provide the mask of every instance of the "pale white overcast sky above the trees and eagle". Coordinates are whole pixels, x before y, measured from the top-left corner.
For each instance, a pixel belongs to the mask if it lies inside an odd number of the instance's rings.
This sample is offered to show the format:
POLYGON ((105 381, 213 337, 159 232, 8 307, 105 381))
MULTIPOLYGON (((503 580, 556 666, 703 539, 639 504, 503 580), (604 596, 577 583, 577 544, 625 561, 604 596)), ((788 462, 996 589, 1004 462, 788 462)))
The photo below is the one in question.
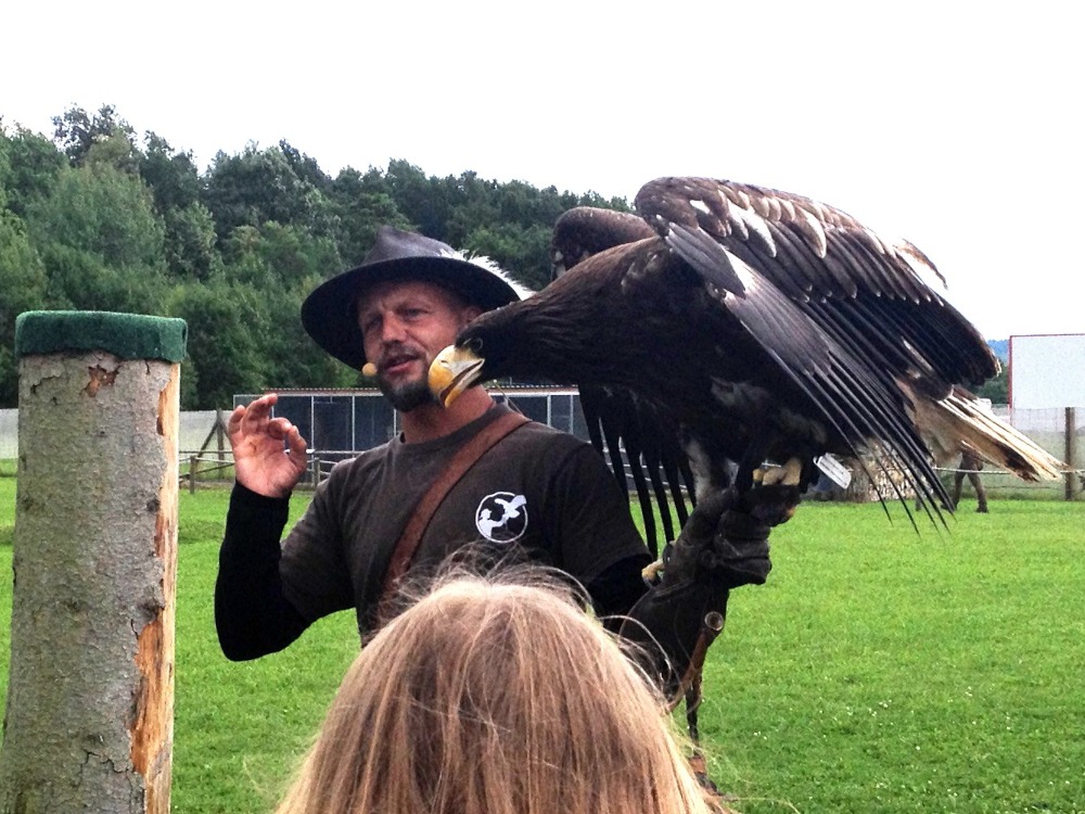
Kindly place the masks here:
POLYGON ((76 104, 193 151, 286 139, 334 175, 631 198, 663 175, 808 195, 902 236, 990 339, 1085 332, 1085 12, 1031 3, 17 3, 0 115, 76 104), (892 9, 892 10, 891 10, 892 9))

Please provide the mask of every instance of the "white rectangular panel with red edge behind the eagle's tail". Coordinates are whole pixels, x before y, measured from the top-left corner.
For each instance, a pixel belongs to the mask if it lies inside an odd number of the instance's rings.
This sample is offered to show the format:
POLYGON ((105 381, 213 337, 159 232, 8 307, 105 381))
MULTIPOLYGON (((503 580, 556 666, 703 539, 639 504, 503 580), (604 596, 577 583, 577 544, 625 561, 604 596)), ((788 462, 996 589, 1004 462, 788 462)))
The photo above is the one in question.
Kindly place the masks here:
POLYGON ((1013 409, 1085 407, 1085 333, 1010 336, 1013 409))

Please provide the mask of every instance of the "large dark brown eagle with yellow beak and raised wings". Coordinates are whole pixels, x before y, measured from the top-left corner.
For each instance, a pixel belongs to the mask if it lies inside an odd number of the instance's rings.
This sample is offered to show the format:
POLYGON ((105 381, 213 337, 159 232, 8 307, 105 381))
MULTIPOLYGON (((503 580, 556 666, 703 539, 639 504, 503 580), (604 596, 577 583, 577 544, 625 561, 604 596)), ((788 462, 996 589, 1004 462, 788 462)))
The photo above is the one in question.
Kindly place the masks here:
POLYGON ((668 537, 668 503, 684 522, 684 494, 753 488, 766 462, 803 488, 840 458, 898 472, 888 488, 912 524, 906 493, 944 523, 935 467, 961 451, 1059 476, 968 390, 998 359, 911 243, 727 180, 653 180, 634 208, 564 213, 551 282, 467 326, 431 367, 434 394, 448 404, 507 377, 577 385, 592 442, 615 472, 631 465, 668 537))

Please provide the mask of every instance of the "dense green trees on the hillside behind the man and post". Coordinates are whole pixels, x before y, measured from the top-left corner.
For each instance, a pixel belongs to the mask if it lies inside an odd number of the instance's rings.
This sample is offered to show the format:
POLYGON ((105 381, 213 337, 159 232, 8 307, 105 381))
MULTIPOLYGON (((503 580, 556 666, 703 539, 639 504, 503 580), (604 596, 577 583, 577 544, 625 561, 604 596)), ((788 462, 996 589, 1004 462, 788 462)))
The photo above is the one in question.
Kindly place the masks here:
POLYGON ((0 117, 0 407, 17 403, 15 318, 78 309, 180 317, 184 409, 235 393, 339 387, 359 374, 319 351, 298 311, 357 265, 376 228, 413 229, 483 254, 528 288, 550 278, 550 230, 577 205, 624 199, 427 176, 404 160, 334 177, 286 141, 191 152, 142 136, 111 105, 72 107, 47 137, 0 117))

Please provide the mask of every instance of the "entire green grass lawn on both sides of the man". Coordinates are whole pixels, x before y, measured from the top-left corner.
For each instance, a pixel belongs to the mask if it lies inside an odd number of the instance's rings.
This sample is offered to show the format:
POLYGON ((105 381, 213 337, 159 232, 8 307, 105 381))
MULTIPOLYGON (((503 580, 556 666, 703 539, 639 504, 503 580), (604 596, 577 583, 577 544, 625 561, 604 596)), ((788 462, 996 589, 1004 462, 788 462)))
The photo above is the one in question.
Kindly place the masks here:
MULTIPOLYGON (((225 491, 180 495, 173 810, 266 812, 357 653, 341 614, 218 651, 225 491)), ((295 501, 295 510, 299 503, 295 501)), ((0 698, 14 480, 0 478, 0 698)), ((993 500, 948 533, 807 504, 735 593, 705 677, 713 776, 745 814, 1085 812, 1085 504, 993 500)))

